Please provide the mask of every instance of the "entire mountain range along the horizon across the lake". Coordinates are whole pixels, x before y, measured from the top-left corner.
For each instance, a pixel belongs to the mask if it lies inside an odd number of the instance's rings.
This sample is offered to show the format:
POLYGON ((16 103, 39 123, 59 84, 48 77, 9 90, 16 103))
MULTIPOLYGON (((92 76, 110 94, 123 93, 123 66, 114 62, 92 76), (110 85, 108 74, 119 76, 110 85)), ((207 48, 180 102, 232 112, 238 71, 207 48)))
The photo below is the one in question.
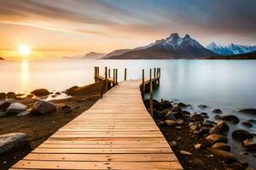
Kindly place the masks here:
POLYGON ((234 43, 222 46, 211 42, 205 48, 188 34, 180 37, 177 33, 172 33, 169 37, 146 46, 117 49, 109 54, 90 52, 84 55, 84 59, 231 59, 232 55, 236 55, 236 59, 251 59, 251 54, 256 54, 256 46, 234 43))

